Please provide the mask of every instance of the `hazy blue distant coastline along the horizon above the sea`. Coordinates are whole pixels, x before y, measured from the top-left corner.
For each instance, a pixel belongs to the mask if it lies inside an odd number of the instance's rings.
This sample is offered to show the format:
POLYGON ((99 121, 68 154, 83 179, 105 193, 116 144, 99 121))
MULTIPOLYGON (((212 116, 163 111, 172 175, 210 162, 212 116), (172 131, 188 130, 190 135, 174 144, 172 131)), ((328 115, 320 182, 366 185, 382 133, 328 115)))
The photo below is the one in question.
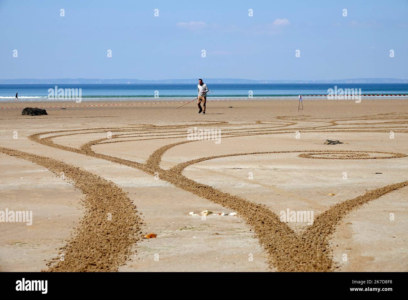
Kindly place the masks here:
MULTIPOLYGON (((284 83, 408 83, 408 79, 397 78, 351 78, 333 80, 252 80, 239 78, 203 78, 206 83, 250 83, 250 84, 284 84, 284 83)), ((59 78, 59 79, 0 79, 0 84, 195 84, 197 78, 192 79, 98 79, 98 78, 59 78)))

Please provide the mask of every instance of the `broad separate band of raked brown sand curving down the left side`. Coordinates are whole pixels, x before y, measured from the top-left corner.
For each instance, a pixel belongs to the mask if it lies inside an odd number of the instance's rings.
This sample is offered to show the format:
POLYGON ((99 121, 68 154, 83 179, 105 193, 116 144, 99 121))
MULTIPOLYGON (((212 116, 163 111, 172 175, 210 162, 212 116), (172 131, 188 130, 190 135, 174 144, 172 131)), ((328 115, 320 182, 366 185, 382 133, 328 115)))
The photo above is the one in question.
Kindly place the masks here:
POLYGON ((47 271, 118 271, 137 242, 137 230, 142 224, 126 193, 113 182, 52 158, 2 147, 0 152, 29 160, 56 174, 64 172, 86 196, 82 201, 86 213, 75 237, 60 249, 64 260, 54 258, 47 264, 47 271))

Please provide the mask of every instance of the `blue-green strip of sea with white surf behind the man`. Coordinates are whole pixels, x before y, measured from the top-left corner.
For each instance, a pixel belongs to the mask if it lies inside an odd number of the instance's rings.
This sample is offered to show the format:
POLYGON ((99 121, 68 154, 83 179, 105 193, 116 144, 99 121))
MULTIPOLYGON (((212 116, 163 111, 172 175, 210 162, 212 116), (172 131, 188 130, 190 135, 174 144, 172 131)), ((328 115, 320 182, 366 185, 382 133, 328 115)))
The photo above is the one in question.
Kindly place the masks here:
MULTIPOLYGON (((299 95, 327 95, 329 89, 361 89, 361 94, 408 94, 407 83, 292 83, 292 84, 207 84, 207 98, 298 98, 299 95)), ((14 100, 55 100, 54 90, 81 89, 82 100, 134 101, 190 99, 197 96, 196 84, 0 84, 0 102, 14 100)), ((58 93, 55 97, 58 97, 58 93)), ((408 97, 401 97, 408 98, 408 97)), ((71 100, 71 99, 58 99, 71 100)))

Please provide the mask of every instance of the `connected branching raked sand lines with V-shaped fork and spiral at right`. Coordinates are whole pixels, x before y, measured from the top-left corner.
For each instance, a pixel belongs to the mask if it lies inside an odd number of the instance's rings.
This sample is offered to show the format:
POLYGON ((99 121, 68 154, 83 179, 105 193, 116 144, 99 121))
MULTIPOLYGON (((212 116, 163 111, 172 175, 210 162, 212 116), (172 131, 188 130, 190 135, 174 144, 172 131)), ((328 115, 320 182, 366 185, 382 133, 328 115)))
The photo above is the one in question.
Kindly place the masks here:
MULTIPOLYGON (((396 115, 390 114, 388 118, 393 118, 396 115)), ((278 117, 278 121, 259 121, 257 124, 264 124, 262 122, 279 122, 282 120, 288 120, 289 123, 284 123, 278 127, 290 127, 290 128, 275 128, 275 127, 266 127, 263 129, 256 128, 244 128, 246 131, 237 131, 237 129, 226 128, 225 135, 223 138, 234 138, 242 136, 256 136, 262 134, 278 134, 278 133, 294 133, 296 131, 302 130, 302 132, 388 132, 389 130, 380 130, 373 129, 371 130, 369 123, 356 123, 363 126, 357 127, 358 129, 349 129, 344 130, 341 128, 339 130, 334 130, 335 126, 344 125, 340 124, 335 120, 322 121, 322 120, 308 120, 307 117, 303 116, 303 119, 299 120, 299 116, 284 116, 278 117), (289 118, 293 118, 290 120, 289 118), (296 118, 296 119, 294 119, 296 118), (317 127, 297 127, 297 123, 294 121, 302 122, 324 122, 326 125, 317 126, 317 127), (328 130, 326 130, 328 129, 328 130), (229 131, 229 132, 228 132, 229 131)), ((374 116, 362 116, 360 118, 365 118, 368 120, 375 120, 376 118, 386 117, 386 115, 374 115, 374 116)), ((302 118, 302 117, 300 117, 302 118)), ((357 118, 348 119, 348 120, 358 120, 357 118)), ((346 121, 346 120, 341 120, 346 121)), ((403 124, 403 123, 393 123, 387 122, 387 124, 403 124)), ((201 124, 202 126, 221 126, 221 127, 238 127, 240 124, 226 124, 222 123, 213 123, 213 124, 201 124)), ((241 124, 242 125, 242 124, 241 124)), ((247 123, 245 124, 248 125, 247 123)), ((254 125, 254 124, 252 124, 254 125)), ((271 124, 277 125, 277 124, 271 124)), ((141 126, 135 127, 120 127, 120 128, 111 128, 114 132, 130 132, 129 135, 133 134, 132 131, 140 131, 140 136, 146 136, 148 133, 169 133, 173 129, 182 129, 194 126, 194 124, 183 124, 183 125, 169 125, 169 126, 155 126, 151 124, 142 124, 141 126), (166 129, 165 131, 163 131, 166 129), (170 130, 170 131, 169 131, 170 130)), ((406 129, 406 127, 404 127, 406 129)), ((397 132, 398 130, 394 130, 397 132)), ((198 158, 188 162, 182 162, 177 164, 170 169, 163 169, 160 167, 162 162, 162 156, 169 149, 176 147, 181 144, 189 142, 199 142, 199 141, 187 141, 183 140, 181 142, 175 142, 172 144, 167 144, 163 147, 160 147, 154 151, 151 156, 144 163, 135 162, 131 160, 125 160, 118 157, 108 156, 101 153, 96 153, 92 150, 92 146, 97 144, 102 144, 108 138, 100 138, 97 140, 89 141, 85 144, 82 144, 79 149, 73 147, 67 147, 53 142, 53 138, 61 136, 71 136, 75 134, 87 134, 87 133, 106 133, 106 128, 93 128, 93 129, 75 129, 75 130, 65 130, 65 131, 50 131, 43 133, 36 133, 29 138, 40 144, 47 145, 49 147, 54 147, 57 149, 71 151, 75 153, 81 153, 86 156, 92 156, 95 158, 100 158, 104 160, 109 160, 118 164, 126 165, 144 171, 150 175, 154 175, 155 172, 158 172, 159 178, 170 182, 171 184, 189 191, 197 196, 208 199, 212 202, 221 204, 222 206, 233 209, 237 211, 240 217, 244 218, 246 223, 253 227, 255 230, 256 237, 258 238, 260 244, 268 252, 268 263, 271 266, 277 268, 278 271, 333 271, 335 264, 333 263, 331 257, 331 249, 328 245, 328 238, 331 233, 335 230, 336 225, 341 220, 343 216, 353 210, 361 207, 362 204, 367 203, 371 200, 378 199, 379 197, 390 193, 402 187, 408 185, 408 181, 398 182, 395 184, 389 184, 385 187, 374 189, 364 193, 361 196, 357 196, 352 199, 345 200, 339 204, 335 204, 330 207, 327 211, 319 214, 315 218, 315 222, 312 226, 308 227, 305 231, 301 233, 295 233, 293 229, 288 227, 287 224, 280 222, 279 217, 273 211, 268 209, 263 204, 257 204, 255 202, 249 201, 243 197, 234 196, 229 193, 223 192, 219 189, 215 189, 211 186, 195 182, 189 178, 186 178, 183 175, 183 170, 195 163, 212 160, 215 158, 223 158, 229 156, 244 156, 244 155, 264 155, 264 154, 273 154, 273 153, 293 153, 297 155, 299 159, 304 158, 323 158, 323 159, 398 159, 407 157, 404 153, 394 153, 394 152, 379 152, 379 151, 348 151, 348 150, 299 150, 299 151, 268 151, 268 152, 251 152, 251 153, 232 153, 220 156, 210 156, 204 158, 198 158), (60 133, 60 134, 56 134, 60 133), (56 134, 56 135, 53 135, 56 134), (44 136, 44 137, 42 137, 44 136)), ((400 130, 399 132, 407 133, 406 130, 400 130)), ((122 137, 122 134, 113 134, 112 139, 118 139, 122 137)), ((155 135, 154 135, 155 136, 155 135)), ((169 137, 157 137, 149 139, 164 139, 164 138, 179 138, 181 136, 169 136, 169 137)), ((157 135, 160 136, 160 135, 157 135)), ((139 139, 146 140, 146 139, 139 139)), ((119 140, 118 142, 126 142, 129 140, 119 140)), ((7 150, 7 149, 6 149, 7 150)), ((2 151, 6 151, 2 150, 2 151)), ((10 151, 9 149, 7 151, 10 151)), ((11 150, 12 151, 12 150, 11 150)), ((51 160, 51 159, 50 159, 51 160)), ((56 161, 55 161, 56 162, 56 161)), ((126 197, 126 196, 124 196, 126 197)), ((126 200, 128 201, 128 200, 126 200)), ((125 207, 126 209, 126 207, 125 207)), ((133 216, 135 218, 135 216, 133 216)), ((123 236, 123 235, 122 235, 123 236)), ((124 235, 129 236, 129 235, 124 235)), ((71 243, 67 245, 67 248, 72 247, 71 243)), ((78 258, 83 259, 85 249, 78 249, 78 258)), ((78 262, 80 266, 86 265, 89 261, 78 262)), ((101 267, 100 262, 93 261, 95 268, 101 267)), ((71 269, 75 269, 73 266, 71 269)), ((62 268, 63 269, 63 268, 62 268)), ((81 269, 81 268, 79 268, 81 269)), ((113 268, 114 269, 114 268, 113 268)))

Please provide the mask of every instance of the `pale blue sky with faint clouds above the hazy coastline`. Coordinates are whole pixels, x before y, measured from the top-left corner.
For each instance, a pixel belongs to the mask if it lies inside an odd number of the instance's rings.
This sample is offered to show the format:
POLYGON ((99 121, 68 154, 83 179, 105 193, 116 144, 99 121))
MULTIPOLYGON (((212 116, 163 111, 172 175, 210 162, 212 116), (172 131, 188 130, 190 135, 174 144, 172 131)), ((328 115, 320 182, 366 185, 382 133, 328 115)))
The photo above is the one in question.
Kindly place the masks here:
POLYGON ((406 0, 0 0, 0 78, 407 79, 407 13, 406 0))

